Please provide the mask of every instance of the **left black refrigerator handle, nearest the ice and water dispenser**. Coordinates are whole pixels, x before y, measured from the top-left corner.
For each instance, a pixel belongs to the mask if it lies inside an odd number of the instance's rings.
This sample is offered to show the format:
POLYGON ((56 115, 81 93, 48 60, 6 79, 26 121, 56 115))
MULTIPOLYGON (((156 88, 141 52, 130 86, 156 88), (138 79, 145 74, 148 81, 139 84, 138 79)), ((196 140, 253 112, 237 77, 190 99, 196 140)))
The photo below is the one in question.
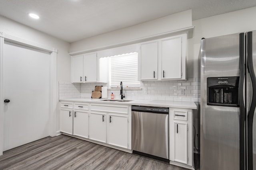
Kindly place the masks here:
POLYGON ((244 170, 244 124, 245 124, 245 106, 244 106, 244 76, 245 76, 245 63, 244 63, 244 33, 239 34, 239 66, 240 78, 238 84, 238 97, 240 106, 240 125, 239 125, 239 146, 240 146, 240 170, 244 170))

